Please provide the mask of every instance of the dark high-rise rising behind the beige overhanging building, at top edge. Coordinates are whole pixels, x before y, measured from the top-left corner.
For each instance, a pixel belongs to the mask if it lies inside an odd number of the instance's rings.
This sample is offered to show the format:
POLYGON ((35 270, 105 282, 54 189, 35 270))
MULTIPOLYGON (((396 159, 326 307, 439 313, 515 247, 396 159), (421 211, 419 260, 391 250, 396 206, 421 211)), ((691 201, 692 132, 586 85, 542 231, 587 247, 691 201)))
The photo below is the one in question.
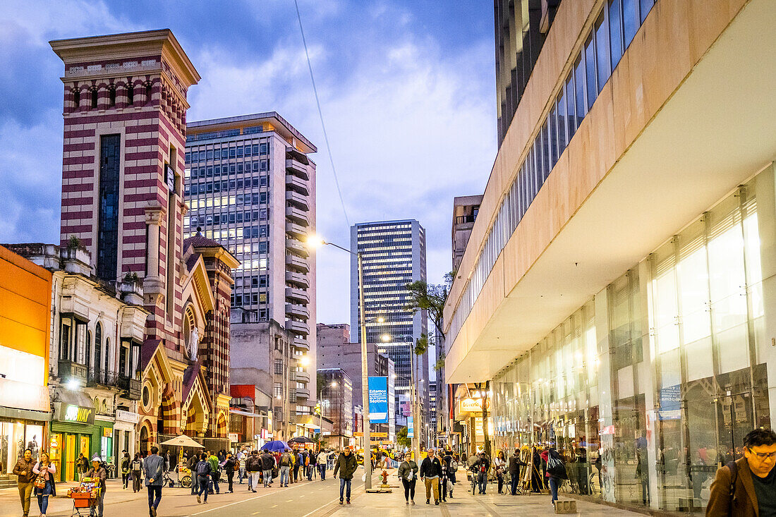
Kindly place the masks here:
POLYGON ((498 144, 504 141, 561 0, 494 0, 498 144))

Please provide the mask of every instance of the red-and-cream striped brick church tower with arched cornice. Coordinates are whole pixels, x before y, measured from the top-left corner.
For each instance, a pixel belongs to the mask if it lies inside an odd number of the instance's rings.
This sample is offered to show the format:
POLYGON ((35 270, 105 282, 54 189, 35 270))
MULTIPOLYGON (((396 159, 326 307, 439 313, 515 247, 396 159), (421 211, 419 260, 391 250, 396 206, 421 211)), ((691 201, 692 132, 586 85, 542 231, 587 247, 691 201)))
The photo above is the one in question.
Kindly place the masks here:
POLYGON ((132 273, 143 279, 151 315, 141 363, 158 380, 144 379, 138 412, 148 415, 153 442, 157 432, 180 429, 189 366, 179 360, 183 169, 186 92, 199 74, 169 29, 50 45, 64 61, 61 245, 78 239, 106 283, 132 273), (154 359, 159 353, 165 357, 154 359), (148 366, 154 361, 161 363, 148 366))

